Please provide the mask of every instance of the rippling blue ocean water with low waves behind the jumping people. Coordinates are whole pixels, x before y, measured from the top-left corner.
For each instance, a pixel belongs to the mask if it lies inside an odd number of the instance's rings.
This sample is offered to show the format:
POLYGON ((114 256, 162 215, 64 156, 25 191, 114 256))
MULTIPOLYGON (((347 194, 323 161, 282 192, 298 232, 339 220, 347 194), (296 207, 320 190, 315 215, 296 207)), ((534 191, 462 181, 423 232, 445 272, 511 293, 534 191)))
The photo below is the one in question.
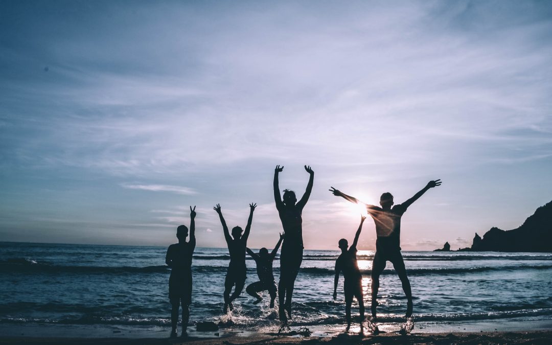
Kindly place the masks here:
MULTIPOLYGON (((0 323, 39 325, 170 326, 167 248, 0 242, 0 323)), ((343 278, 332 298, 338 251, 306 250, 295 283, 292 325, 344 323, 343 278)), ((412 285, 416 322, 550 320, 552 254, 500 252, 402 252, 412 285)), ((373 251, 359 251, 369 314, 373 251)), ((256 329, 277 325, 274 310, 253 305, 245 289, 231 320, 222 315, 229 263, 226 248, 196 248, 190 324, 256 329)), ((279 261, 274 261, 278 280, 279 261)), ((247 260, 246 284, 257 280, 247 260)), ((380 278, 382 322, 400 322, 406 299, 392 264, 380 278)), ((358 315, 353 304, 353 316, 358 315)))

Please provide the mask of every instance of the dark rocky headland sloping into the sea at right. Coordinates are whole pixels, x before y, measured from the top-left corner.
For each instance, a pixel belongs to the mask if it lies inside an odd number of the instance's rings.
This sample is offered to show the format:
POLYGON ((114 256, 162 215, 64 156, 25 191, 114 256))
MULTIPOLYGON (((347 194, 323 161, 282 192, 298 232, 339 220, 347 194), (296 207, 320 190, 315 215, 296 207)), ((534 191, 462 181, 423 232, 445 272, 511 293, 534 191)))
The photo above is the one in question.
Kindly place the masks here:
MULTIPOLYGON (((450 251, 449 243, 436 252, 450 251)), ((513 230, 492 227, 483 238, 475 233, 471 247, 458 251, 474 252, 552 252, 552 201, 540 206, 522 226, 513 230)))

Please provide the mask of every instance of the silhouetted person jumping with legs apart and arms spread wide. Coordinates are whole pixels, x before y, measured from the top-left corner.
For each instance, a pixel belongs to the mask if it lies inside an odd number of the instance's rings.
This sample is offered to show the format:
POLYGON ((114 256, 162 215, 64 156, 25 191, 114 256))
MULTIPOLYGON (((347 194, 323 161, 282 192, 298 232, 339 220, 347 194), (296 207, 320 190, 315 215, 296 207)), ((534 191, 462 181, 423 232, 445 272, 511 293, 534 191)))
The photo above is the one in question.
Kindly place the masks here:
POLYGON ((440 179, 436 181, 429 181, 426 187, 420 192, 416 193, 412 198, 406 200, 400 205, 393 206, 393 195, 391 193, 383 193, 380 198, 381 208, 374 205, 368 205, 356 198, 350 197, 347 194, 340 192, 339 190, 331 187, 330 192, 338 197, 343 197, 346 200, 356 204, 363 204, 366 210, 374 219, 376 225, 376 253, 374 255, 374 261, 372 262, 372 301, 371 311, 372 316, 376 317, 376 306, 378 306, 378 289, 379 289, 379 276, 385 269, 386 262, 390 261, 395 268, 395 271, 399 275, 402 283, 402 289, 405 291, 407 298, 406 317, 412 316, 412 291, 410 289, 410 282, 406 275, 405 262, 402 259, 400 236, 401 236, 401 217, 406 212, 408 206, 414 201, 420 198, 423 193, 426 193, 429 188, 440 185, 440 179), (391 207, 392 206, 392 207, 391 207))

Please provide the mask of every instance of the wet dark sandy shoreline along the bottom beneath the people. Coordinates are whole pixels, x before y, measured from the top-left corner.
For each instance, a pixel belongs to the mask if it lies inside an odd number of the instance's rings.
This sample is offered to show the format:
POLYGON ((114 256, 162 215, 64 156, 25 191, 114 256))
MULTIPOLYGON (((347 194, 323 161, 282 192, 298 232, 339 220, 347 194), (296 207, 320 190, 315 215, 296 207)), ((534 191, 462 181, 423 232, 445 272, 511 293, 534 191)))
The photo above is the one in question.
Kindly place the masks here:
MULTIPOLYGON (((479 322, 416 323, 410 335, 397 332, 399 324, 380 325, 384 332, 378 336, 367 330, 359 335, 358 324, 350 333, 344 325, 310 326, 310 336, 278 335, 277 326, 261 327, 256 331, 245 328, 220 328, 218 331, 198 332, 188 328, 186 338, 169 339, 167 326, 120 325, 0 325, 0 344, 342 344, 342 343, 409 343, 409 344, 549 344, 552 343, 552 320, 482 320, 479 322)), ((299 327, 291 326, 291 330, 299 327)))

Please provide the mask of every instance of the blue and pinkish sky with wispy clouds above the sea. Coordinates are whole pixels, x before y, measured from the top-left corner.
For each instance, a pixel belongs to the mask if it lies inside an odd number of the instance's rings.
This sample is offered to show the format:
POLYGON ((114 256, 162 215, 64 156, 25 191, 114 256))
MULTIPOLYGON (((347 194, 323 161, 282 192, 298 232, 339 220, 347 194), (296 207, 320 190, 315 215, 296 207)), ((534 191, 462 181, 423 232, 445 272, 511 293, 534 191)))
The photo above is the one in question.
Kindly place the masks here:
MULTIPOLYGON (((248 245, 298 198, 306 249, 399 204, 403 250, 471 245, 552 200, 552 3, 0 0, 0 241, 248 245)), ((367 221, 359 248, 374 250, 367 221)))

